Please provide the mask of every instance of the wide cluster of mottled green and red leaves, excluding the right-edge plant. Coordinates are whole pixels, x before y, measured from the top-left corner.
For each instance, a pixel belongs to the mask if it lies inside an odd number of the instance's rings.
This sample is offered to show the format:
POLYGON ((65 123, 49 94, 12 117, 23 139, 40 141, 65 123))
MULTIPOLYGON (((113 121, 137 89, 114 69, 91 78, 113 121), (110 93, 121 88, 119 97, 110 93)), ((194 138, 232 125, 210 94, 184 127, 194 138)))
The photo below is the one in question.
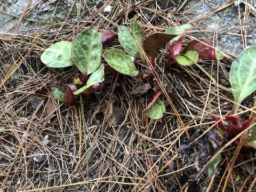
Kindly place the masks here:
MULTIPOLYGON (((132 19, 130 29, 125 26, 118 29, 119 43, 124 51, 108 49, 102 53, 102 46, 107 45, 116 37, 112 29, 100 33, 95 28, 89 28, 78 34, 74 43, 67 41, 54 43, 41 55, 42 62, 52 68, 76 66, 81 74, 77 74, 73 78, 76 89, 71 89, 74 86, 69 85, 67 85, 66 90, 54 86, 51 91, 52 95, 66 106, 75 106, 75 95, 81 94, 83 97, 87 97, 88 94, 101 89, 104 85, 106 69, 111 69, 109 71, 112 73, 139 76, 142 80, 149 81, 150 74, 144 76, 135 63, 140 59, 145 65, 147 60, 150 60, 150 65, 154 68, 157 53, 166 44, 170 46, 169 63, 172 60, 179 65, 189 66, 199 59, 222 59, 222 55, 216 52, 209 42, 202 40, 200 43, 196 42, 197 45, 195 42, 191 42, 185 48, 186 51, 180 54, 183 31, 191 27, 190 24, 186 24, 177 28, 171 27, 165 33, 146 34, 139 23, 132 19), (105 62, 102 62, 102 58, 105 62)), ((159 99, 159 95, 160 92, 157 92, 144 109, 146 115, 153 119, 162 118, 166 110, 164 102, 159 99)))

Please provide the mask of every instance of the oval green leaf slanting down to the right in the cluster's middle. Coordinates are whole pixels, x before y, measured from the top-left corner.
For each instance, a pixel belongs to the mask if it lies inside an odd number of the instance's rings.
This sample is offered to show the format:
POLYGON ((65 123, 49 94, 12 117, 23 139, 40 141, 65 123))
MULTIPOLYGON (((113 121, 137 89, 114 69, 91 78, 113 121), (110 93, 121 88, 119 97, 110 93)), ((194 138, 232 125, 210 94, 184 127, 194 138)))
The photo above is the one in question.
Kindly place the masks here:
POLYGON ((110 67, 117 70, 119 73, 130 76, 137 76, 139 74, 130 55, 125 54, 123 51, 118 49, 107 50, 103 54, 103 58, 110 67))

